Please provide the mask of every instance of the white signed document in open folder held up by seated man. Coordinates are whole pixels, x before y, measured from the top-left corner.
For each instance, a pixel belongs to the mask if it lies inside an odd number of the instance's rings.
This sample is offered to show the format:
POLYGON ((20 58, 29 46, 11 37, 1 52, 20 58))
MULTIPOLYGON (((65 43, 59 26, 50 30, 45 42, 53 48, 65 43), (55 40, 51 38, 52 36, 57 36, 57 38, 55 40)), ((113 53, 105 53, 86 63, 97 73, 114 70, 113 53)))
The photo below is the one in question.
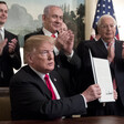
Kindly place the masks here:
POLYGON ((93 58, 90 51, 94 82, 101 87, 100 102, 114 102, 113 83, 111 76, 110 64, 106 59, 93 58))

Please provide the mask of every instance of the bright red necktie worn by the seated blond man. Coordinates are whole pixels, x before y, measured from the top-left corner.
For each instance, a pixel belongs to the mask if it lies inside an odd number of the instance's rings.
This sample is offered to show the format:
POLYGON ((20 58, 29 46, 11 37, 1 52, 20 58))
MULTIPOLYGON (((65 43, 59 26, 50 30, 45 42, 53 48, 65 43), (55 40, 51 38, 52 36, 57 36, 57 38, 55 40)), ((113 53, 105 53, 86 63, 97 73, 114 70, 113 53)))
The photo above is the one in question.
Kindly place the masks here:
POLYGON ((48 75, 48 74, 45 74, 44 80, 45 80, 45 82, 46 82, 46 86, 48 86, 49 91, 51 92, 52 100, 56 100, 56 96, 55 96, 55 94, 54 94, 54 91, 53 91, 53 89, 52 89, 52 85, 51 85, 51 83, 50 83, 50 80, 49 80, 49 75, 48 75))

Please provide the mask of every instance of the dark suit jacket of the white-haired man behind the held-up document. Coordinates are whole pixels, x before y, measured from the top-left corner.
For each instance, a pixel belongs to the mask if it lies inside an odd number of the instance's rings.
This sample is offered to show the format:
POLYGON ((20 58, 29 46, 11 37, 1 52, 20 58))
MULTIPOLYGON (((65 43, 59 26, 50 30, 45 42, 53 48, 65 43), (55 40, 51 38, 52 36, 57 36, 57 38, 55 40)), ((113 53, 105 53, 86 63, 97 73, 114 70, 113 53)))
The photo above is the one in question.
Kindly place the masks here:
MULTIPOLYGON (((103 107, 103 105, 97 101, 89 103, 87 111, 91 107, 89 111, 90 115, 124 115, 124 60, 122 59, 123 43, 123 41, 115 40, 115 58, 114 62, 110 64, 112 78, 115 78, 117 85, 117 101, 115 103, 107 103, 105 107, 103 107)), ((86 43, 81 42, 79 44, 78 54, 82 60, 82 72, 85 75, 85 84, 82 83, 81 85, 83 86, 80 86, 82 89, 84 85, 89 86, 94 83, 89 50, 91 50, 94 58, 107 59, 107 50, 101 39, 96 42, 86 41, 86 43)))

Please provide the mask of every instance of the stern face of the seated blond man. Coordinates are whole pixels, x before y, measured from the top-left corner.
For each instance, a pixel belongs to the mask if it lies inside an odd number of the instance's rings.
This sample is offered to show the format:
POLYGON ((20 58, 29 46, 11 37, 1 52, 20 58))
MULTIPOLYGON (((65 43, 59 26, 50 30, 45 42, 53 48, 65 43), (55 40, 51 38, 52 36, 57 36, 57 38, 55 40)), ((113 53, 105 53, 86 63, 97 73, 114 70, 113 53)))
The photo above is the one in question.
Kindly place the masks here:
POLYGON ((41 73, 49 73, 54 69, 53 44, 43 42, 31 54, 31 66, 41 73))

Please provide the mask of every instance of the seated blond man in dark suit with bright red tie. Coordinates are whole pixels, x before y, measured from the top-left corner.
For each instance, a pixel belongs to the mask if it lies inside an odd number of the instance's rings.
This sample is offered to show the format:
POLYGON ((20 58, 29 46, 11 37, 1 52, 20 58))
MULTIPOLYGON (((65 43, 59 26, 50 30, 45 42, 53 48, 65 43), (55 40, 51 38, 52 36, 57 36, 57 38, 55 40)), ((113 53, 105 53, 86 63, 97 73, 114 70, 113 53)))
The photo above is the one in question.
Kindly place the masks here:
POLYGON ((83 93, 70 95, 66 82, 54 69, 54 39, 33 35, 24 43, 23 66, 10 82, 12 120, 54 120, 72 114, 85 114, 86 103, 101 97, 97 84, 83 93), (50 76, 49 91, 45 75, 50 76))

